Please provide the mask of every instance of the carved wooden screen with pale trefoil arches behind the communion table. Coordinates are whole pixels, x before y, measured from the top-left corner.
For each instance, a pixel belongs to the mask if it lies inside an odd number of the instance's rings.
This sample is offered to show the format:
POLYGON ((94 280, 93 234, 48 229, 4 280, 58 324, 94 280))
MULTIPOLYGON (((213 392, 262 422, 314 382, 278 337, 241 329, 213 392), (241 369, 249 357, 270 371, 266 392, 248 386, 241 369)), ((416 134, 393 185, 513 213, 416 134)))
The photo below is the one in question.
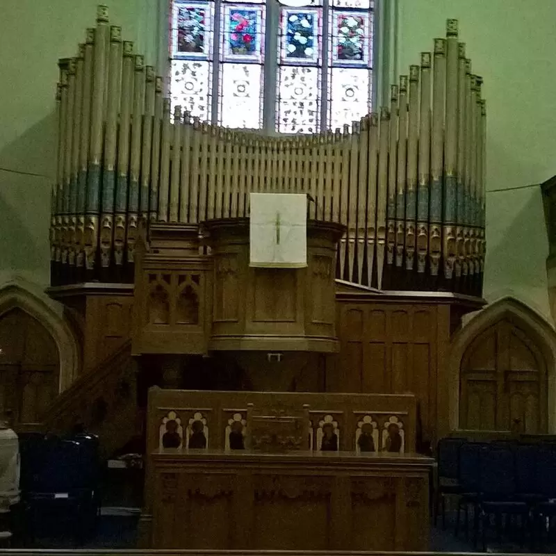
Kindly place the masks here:
POLYGON ((253 416, 259 418, 258 422, 287 418, 286 430, 291 420, 302 420, 304 441, 295 447, 297 450, 320 451, 324 441, 322 451, 329 452, 415 451, 416 400, 412 395, 153 389, 149 393, 147 453, 187 448, 195 420, 202 422, 202 427, 195 426, 206 440, 201 448, 231 448, 232 429, 245 435, 248 444, 250 436, 259 434, 255 423, 250 422, 253 416), (375 449, 366 450, 370 443, 363 439, 361 450, 359 436, 368 430, 368 423, 375 449))

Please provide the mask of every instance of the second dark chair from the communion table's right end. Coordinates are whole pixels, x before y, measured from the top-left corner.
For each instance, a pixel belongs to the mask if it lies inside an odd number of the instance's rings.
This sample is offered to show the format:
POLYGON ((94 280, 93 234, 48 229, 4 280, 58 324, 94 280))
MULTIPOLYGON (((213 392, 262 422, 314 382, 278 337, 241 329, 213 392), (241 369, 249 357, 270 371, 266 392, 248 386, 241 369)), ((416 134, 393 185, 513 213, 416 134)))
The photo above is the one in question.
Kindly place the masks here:
POLYGON ((465 513, 466 538, 469 537, 469 507, 473 508, 473 541, 477 541, 477 530, 479 526, 479 502, 480 502, 480 459, 482 452, 488 448, 488 444, 480 442, 468 442, 459 448, 459 486, 461 496, 457 503, 457 517, 455 534, 459 534, 459 523, 461 510, 465 513))

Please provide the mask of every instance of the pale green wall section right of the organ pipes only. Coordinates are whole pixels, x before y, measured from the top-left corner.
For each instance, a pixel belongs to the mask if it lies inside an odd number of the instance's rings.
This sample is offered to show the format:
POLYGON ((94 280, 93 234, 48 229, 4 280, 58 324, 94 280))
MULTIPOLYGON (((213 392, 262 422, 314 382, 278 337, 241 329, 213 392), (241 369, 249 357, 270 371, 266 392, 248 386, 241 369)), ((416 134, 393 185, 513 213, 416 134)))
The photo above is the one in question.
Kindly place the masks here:
POLYGON ((514 294, 550 318, 548 240, 538 187, 556 174, 556 1, 399 0, 400 71, 459 19, 487 104, 488 300, 514 294))

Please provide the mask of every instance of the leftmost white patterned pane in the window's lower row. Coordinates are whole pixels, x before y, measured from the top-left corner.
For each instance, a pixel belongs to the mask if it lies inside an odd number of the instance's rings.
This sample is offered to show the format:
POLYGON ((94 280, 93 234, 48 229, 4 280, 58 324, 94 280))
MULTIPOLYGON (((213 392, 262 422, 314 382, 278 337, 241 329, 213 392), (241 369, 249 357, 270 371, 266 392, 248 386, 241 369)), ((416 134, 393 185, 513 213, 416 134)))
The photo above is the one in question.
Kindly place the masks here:
POLYGON ((173 106, 179 105, 201 120, 211 118, 211 67, 202 60, 172 60, 170 92, 173 106))

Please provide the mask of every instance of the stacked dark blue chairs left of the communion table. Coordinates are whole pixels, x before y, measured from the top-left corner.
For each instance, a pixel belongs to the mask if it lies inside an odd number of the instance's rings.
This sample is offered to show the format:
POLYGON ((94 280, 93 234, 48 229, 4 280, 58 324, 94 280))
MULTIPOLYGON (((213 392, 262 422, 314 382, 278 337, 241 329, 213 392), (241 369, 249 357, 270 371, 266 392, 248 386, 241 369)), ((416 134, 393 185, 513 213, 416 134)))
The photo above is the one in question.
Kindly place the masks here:
POLYGON ((32 436, 21 441, 22 518, 26 534, 44 516, 69 518, 81 545, 99 516, 99 446, 95 436, 32 436))

